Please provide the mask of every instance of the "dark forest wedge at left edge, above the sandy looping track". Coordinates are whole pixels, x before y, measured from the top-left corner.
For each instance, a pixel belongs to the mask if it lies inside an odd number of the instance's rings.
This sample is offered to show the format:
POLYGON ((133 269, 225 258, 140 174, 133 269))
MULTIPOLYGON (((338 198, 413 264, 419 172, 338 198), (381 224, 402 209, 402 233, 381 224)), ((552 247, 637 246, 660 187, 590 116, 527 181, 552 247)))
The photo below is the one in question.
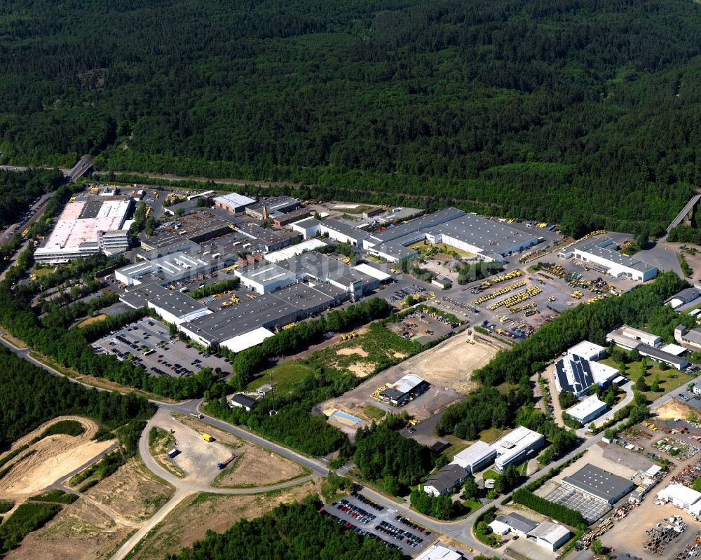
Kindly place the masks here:
POLYGON ((56 377, 0 346, 0 450, 41 423, 64 414, 93 418, 115 429, 156 411, 143 397, 86 389, 56 377))

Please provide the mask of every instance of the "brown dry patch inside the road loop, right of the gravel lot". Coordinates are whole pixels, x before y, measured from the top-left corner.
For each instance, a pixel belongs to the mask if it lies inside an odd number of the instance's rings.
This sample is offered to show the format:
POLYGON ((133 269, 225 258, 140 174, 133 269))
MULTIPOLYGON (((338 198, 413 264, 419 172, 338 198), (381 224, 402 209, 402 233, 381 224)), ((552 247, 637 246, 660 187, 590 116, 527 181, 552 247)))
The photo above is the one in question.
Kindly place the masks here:
POLYGON ((304 468, 294 461, 266 451, 235 435, 212 428, 194 418, 177 416, 177 420, 195 430, 207 430, 207 433, 215 437, 218 442, 236 448, 230 449, 228 452, 228 456, 231 456, 232 453, 238 456, 236 463, 233 468, 219 471, 223 475, 217 479, 215 486, 222 488, 269 486, 306 474, 304 468))

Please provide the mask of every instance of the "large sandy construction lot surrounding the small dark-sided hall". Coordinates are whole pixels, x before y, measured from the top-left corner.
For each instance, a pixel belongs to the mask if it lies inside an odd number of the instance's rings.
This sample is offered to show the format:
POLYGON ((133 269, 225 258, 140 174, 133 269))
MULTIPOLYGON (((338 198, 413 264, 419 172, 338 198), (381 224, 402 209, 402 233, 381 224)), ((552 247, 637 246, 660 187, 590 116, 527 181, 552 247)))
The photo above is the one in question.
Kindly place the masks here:
POLYGON ((355 430, 372 420, 365 415, 367 404, 395 414, 406 410, 414 418, 426 420, 435 411, 462 399, 464 393, 472 390, 475 387, 475 383, 472 382, 472 371, 489 362, 499 348, 501 346, 498 341, 492 344, 490 341, 473 339, 472 334, 464 331, 401 364, 381 371, 341 397, 323 402, 319 405, 318 411, 322 411, 326 416, 332 416, 335 411, 338 411, 339 414, 334 415, 334 418, 339 418, 340 415, 343 420, 346 420, 346 416, 350 416, 351 420, 347 423, 330 420, 348 435, 355 434, 355 430), (408 402, 404 407, 393 407, 372 397, 378 388, 395 383, 402 376, 410 373, 430 383, 430 388, 423 395, 408 402), (355 423, 352 418, 360 422, 355 423))

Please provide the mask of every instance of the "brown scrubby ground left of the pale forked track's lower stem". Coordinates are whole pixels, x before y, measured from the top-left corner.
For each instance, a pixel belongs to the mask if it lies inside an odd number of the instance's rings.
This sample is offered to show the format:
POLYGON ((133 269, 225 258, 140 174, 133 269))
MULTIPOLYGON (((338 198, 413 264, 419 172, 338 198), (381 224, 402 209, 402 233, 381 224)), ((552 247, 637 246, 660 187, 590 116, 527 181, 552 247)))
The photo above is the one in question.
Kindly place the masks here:
POLYGON ((172 496, 140 460, 132 460, 93 486, 52 521, 29 533, 10 560, 93 560, 109 558, 172 496))

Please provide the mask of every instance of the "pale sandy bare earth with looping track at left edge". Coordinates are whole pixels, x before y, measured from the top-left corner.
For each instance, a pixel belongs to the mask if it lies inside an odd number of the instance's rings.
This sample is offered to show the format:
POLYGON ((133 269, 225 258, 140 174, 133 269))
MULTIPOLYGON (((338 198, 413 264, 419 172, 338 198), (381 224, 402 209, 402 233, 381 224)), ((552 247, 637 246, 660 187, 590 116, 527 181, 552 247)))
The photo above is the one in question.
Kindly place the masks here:
POLYGON ((32 438, 41 435, 49 425, 60 420, 79 421, 86 426, 86 431, 76 437, 64 434, 48 436, 30 446, 27 451, 20 453, 10 462, 12 470, 0 479, 1 496, 38 493, 114 444, 114 440, 90 441, 97 432, 97 424, 92 420, 79 416, 60 416, 19 439, 13 444, 13 449, 18 445, 29 443, 32 438), (20 460, 29 451, 36 451, 36 453, 20 460))

